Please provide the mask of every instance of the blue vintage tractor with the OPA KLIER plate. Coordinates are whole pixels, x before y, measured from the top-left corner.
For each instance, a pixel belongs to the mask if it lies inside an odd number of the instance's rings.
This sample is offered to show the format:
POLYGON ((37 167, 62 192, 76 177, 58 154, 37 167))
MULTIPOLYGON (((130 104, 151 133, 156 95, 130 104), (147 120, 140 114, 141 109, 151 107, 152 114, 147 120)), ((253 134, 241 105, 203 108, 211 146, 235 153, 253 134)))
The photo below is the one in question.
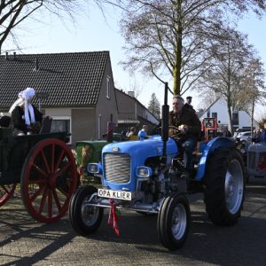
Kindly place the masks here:
POLYGON ((101 163, 88 165, 88 171, 101 178, 102 187, 86 185, 74 193, 69 206, 74 231, 82 236, 97 231, 104 208, 152 213, 158 215, 162 245, 175 250, 188 236, 188 198, 195 192, 204 193, 206 211, 213 223, 228 226, 238 222, 245 190, 241 154, 226 137, 202 142, 194 154, 194 174, 184 176, 183 156, 168 137, 167 103, 166 83, 161 136, 106 145, 101 163))

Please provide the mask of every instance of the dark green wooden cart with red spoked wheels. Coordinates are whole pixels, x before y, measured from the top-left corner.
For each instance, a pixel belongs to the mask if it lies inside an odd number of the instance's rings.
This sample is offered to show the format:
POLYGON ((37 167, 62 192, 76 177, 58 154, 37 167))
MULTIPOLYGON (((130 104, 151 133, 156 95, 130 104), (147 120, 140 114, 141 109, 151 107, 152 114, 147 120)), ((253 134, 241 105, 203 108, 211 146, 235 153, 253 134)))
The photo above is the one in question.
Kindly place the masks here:
POLYGON ((12 136, 0 128, 0 207, 20 186, 28 213, 41 223, 66 214, 78 173, 66 132, 12 136))

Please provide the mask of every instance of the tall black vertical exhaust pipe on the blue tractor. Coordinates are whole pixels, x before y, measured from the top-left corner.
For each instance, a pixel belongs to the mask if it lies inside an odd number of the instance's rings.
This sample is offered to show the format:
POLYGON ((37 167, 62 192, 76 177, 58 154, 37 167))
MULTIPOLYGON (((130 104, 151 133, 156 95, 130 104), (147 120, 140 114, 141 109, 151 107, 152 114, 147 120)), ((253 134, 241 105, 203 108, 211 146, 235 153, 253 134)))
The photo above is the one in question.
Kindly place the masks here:
MULTIPOLYGON (((168 82, 165 82, 164 87, 164 105, 161 106, 161 139, 163 141, 162 146, 162 157, 166 159, 167 157, 167 141, 168 141, 168 82)), ((166 160, 165 160, 166 161, 166 160)))

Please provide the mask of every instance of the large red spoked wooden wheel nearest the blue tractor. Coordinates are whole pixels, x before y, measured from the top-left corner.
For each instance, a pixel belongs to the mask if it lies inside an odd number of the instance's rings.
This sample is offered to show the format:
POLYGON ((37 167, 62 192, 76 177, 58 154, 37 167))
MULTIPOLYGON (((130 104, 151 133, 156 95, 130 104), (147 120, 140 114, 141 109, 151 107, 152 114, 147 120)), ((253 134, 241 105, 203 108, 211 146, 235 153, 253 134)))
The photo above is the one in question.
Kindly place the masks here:
POLYGON ((45 139, 27 154, 21 175, 21 197, 27 211, 42 223, 66 214, 78 182, 73 153, 57 138, 45 139))

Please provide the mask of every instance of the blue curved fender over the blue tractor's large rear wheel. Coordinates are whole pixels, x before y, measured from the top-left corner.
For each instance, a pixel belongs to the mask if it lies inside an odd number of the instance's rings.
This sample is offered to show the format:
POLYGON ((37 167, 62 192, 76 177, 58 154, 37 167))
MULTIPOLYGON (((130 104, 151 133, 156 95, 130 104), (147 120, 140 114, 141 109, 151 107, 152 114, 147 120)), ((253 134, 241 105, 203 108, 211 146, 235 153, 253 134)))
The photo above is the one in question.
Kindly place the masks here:
POLYGON ((226 148, 232 146, 233 146, 233 141, 231 140, 231 138, 228 137, 215 137, 211 141, 200 145, 200 150, 202 152, 202 155, 200 157, 199 169, 195 179, 198 181, 202 180, 206 171, 207 158, 208 156, 210 156, 210 154, 213 151, 215 151, 215 149, 219 147, 226 148))

